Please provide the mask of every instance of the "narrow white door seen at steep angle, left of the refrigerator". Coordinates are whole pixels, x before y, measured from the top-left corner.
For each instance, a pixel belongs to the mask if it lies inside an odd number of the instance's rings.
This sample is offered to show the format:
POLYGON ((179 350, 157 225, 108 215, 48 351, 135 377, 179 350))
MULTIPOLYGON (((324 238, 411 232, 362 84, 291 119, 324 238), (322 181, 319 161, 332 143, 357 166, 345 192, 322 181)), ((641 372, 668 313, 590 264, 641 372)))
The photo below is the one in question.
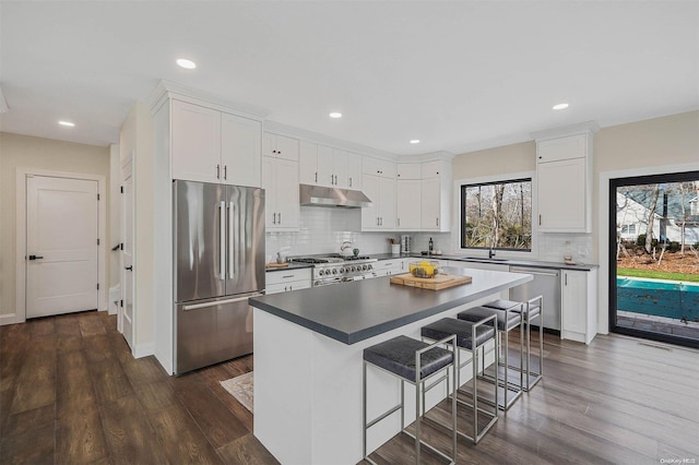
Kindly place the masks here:
POLYGON ((129 162, 121 170, 121 237, 123 250, 121 251, 121 296, 122 306, 117 315, 117 329, 121 331, 123 338, 133 348, 133 160, 129 162))

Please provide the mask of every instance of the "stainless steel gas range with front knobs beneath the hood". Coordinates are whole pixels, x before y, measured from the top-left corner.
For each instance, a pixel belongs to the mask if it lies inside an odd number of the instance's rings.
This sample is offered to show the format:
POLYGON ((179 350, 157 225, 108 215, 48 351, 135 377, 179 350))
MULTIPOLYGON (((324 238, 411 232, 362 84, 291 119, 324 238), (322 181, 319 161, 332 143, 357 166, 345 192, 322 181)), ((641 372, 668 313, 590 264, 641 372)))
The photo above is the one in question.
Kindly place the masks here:
POLYGON ((377 259, 366 255, 318 255, 291 258, 291 262, 313 265, 313 287, 376 277, 377 259))

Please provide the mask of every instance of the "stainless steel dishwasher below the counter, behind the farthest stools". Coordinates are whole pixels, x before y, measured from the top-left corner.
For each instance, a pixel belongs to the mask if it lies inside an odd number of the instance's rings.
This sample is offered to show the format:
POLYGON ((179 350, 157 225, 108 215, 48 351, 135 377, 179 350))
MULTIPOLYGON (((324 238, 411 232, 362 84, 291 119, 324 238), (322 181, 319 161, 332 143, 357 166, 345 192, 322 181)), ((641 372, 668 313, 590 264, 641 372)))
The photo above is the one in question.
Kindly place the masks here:
POLYGON ((560 332, 560 270, 510 266, 510 272, 534 275, 534 281, 510 289, 510 300, 544 296, 544 327, 560 332))

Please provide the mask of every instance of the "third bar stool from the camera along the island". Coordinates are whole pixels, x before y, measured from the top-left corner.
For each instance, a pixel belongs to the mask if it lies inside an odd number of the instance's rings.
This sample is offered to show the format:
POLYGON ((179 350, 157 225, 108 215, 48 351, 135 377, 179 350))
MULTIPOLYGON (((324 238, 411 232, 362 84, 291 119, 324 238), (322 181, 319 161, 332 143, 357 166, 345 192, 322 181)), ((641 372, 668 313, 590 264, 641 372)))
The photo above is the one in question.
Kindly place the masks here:
MULTIPOLYGON (((518 303, 521 306, 521 303, 518 303)), ((509 333, 510 331, 519 327, 520 329, 520 367, 524 363, 524 334, 522 331, 522 313, 512 311, 512 308, 508 308, 506 310, 497 310, 493 308, 486 307, 474 307, 472 309, 462 311, 457 315, 459 320, 465 320, 471 322, 477 322, 483 320, 484 318, 495 315, 497 319, 497 329, 498 329, 498 338, 496 339, 496 353, 499 355, 499 349, 502 347, 503 357, 501 362, 496 366, 495 371, 498 371, 498 367, 505 367, 505 375, 502 380, 503 388, 503 402, 501 405, 498 405, 502 410, 507 410, 514 404, 514 402, 520 398, 522 395, 522 384, 524 381, 524 377, 522 371, 520 370, 520 382, 519 385, 510 382, 509 379, 509 333), (505 339, 505 344, 501 343, 500 339, 505 339), (510 395, 511 392, 511 395, 510 395)), ((493 324, 493 323, 489 323, 493 324)), ((484 377, 488 379, 487 377, 484 377)), ((498 385, 497 377, 496 377, 496 385, 498 385)))

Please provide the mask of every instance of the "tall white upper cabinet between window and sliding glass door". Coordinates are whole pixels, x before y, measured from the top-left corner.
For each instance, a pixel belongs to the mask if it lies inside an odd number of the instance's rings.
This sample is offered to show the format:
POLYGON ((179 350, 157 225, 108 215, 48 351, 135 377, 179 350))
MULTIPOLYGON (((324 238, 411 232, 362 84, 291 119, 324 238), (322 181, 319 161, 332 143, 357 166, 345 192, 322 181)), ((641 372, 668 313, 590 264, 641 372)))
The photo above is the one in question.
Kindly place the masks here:
POLYGON ((592 144, 596 124, 536 139, 536 200, 541 233, 591 233, 592 144))

